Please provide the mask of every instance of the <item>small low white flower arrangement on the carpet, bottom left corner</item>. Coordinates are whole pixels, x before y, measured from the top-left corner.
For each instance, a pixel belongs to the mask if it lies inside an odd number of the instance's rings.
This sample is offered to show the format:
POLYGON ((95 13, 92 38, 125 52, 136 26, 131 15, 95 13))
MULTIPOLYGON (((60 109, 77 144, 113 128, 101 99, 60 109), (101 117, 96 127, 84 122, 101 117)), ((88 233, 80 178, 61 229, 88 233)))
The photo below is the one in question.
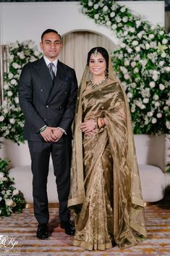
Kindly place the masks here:
POLYGON ((12 186, 14 178, 9 178, 7 166, 9 160, 0 159, 0 216, 9 216, 12 212, 22 212, 25 199, 20 191, 12 186))

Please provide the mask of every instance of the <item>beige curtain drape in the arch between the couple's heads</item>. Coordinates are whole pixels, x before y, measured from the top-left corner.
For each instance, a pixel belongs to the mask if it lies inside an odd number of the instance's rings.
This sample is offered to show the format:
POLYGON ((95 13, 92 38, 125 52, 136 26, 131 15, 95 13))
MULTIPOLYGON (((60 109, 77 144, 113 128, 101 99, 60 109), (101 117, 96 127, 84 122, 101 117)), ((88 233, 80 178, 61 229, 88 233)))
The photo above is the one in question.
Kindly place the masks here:
POLYGON ((108 51, 116 49, 116 44, 106 36, 88 31, 73 32, 62 38, 63 48, 59 59, 75 69, 78 83, 85 70, 88 51, 95 46, 102 46, 108 51))

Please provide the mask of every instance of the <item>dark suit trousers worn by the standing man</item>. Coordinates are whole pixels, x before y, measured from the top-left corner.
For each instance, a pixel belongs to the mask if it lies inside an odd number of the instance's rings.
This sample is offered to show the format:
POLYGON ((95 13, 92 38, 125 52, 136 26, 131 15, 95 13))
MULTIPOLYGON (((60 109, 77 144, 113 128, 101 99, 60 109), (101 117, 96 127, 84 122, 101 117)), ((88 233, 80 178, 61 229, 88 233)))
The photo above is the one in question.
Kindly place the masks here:
MULTIPOLYGON (((47 178, 50 156, 56 176, 56 188, 59 197, 59 217, 62 221, 69 220, 67 208, 70 185, 70 163, 72 154, 72 139, 63 135, 59 141, 39 142, 28 141, 33 172, 33 203, 34 214, 38 223, 48 223, 47 178)), ((54 191, 55 193, 55 191, 54 191)))

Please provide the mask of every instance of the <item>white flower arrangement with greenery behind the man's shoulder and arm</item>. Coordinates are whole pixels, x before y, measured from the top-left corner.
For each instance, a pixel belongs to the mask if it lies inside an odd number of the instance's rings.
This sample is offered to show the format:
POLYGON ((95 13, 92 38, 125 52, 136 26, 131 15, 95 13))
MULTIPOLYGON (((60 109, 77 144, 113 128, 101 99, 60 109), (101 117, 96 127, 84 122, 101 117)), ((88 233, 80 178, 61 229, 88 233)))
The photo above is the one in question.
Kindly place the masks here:
POLYGON ((25 117, 18 99, 18 81, 22 67, 41 57, 33 41, 9 45, 9 73, 4 74, 4 101, 0 107, 0 136, 19 144, 23 142, 22 130, 25 117))

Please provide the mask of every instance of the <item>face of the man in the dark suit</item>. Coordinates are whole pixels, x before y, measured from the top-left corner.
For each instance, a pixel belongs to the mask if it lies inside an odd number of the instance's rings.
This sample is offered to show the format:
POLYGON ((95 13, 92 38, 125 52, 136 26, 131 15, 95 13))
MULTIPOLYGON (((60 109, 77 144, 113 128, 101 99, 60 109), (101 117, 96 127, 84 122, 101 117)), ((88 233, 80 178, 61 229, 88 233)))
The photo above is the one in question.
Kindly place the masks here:
POLYGON ((43 41, 40 43, 43 54, 51 61, 59 56, 61 51, 61 39, 57 33, 47 33, 43 36, 43 41))

